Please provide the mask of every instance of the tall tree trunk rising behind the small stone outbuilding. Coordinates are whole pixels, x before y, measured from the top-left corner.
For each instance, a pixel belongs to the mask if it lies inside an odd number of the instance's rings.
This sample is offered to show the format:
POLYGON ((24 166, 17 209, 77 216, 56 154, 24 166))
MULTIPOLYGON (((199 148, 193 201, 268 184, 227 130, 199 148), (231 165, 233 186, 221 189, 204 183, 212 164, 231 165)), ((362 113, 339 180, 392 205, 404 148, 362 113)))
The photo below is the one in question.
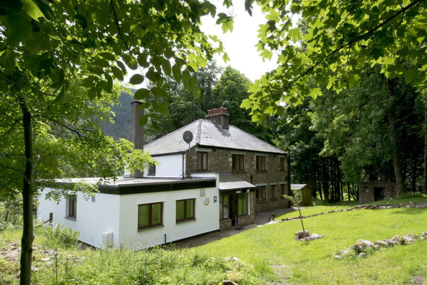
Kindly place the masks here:
POLYGON ((403 179, 402 163, 399 158, 398 139, 396 137, 396 123, 394 116, 394 100, 395 100, 395 80, 387 79, 387 95, 389 99, 389 132, 390 143, 392 145, 393 166, 395 169, 396 186, 398 194, 405 192, 405 181, 403 179))

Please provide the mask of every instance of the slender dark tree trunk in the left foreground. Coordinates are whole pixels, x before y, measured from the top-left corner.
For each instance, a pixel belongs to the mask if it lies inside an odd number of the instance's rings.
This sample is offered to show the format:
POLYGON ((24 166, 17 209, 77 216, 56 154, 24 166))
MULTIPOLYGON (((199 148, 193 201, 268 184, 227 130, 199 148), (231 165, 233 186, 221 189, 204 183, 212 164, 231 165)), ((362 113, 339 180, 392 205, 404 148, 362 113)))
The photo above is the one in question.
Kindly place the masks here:
POLYGON ((32 221, 32 198, 34 189, 33 159, 32 159, 32 125, 31 113, 26 105, 25 98, 21 97, 20 107, 23 114, 24 142, 25 142, 25 172, 23 177, 23 231, 21 239, 20 284, 31 283, 32 241, 34 240, 32 221))

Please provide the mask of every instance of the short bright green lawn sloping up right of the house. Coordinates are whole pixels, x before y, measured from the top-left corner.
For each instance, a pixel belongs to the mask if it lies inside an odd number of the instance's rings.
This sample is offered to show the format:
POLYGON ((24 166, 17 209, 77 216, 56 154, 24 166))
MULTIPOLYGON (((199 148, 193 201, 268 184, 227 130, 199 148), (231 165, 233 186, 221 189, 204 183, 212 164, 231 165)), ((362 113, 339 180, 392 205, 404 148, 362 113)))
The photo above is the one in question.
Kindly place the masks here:
MULTIPOLYGON (((382 203, 409 200, 427 201, 427 196, 382 203)), ((325 212, 325 209, 334 207, 348 207, 348 204, 313 206, 304 209, 303 215, 309 215, 309 210, 311 213, 325 212)), ((310 233, 325 236, 319 240, 295 241, 293 236, 301 230, 301 222, 293 220, 257 227, 192 250, 212 256, 237 256, 275 281, 284 279, 295 284, 412 284, 413 275, 427 277, 427 241, 379 250, 364 259, 336 259, 333 254, 347 249, 360 238, 373 242, 396 234, 420 235, 421 231, 427 230, 426 221, 427 209, 336 212, 304 219, 304 226, 310 233), (281 276, 273 273, 271 265, 285 265, 280 267, 281 276)))

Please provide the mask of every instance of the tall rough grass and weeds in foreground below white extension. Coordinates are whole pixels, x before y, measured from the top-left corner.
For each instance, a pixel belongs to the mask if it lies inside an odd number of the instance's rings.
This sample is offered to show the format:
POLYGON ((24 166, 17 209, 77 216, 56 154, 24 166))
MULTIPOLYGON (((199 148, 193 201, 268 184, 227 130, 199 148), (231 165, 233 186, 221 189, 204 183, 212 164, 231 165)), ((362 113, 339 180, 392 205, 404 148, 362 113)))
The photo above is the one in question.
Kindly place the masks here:
MULTIPOLYGON (((61 231, 67 233, 66 229, 61 231)), ((32 273, 33 284, 219 284, 228 279, 228 273, 238 284, 267 284, 259 268, 233 257, 212 257, 173 247, 137 252, 126 248, 81 250, 64 244, 61 238, 52 238, 54 233, 55 229, 36 228, 33 266, 38 270, 32 273)), ((19 237, 20 230, 0 232, 0 248, 19 243, 19 237)), ((0 284, 18 284, 18 271, 18 260, 0 258, 0 284)))

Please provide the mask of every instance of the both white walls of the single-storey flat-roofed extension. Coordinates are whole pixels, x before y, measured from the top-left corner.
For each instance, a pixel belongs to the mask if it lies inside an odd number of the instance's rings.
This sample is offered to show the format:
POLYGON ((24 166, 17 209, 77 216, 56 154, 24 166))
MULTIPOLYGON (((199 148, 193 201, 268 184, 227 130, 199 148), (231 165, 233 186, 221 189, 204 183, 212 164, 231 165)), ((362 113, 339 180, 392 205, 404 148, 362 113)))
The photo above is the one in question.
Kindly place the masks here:
MULTIPOLYGON (((204 173, 204 175, 207 175, 204 173)), ((58 204, 45 200, 45 188, 38 198, 38 218, 49 219, 53 212, 53 224, 63 223, 65 227, 81 230, 80 240, 95 247, 102 248, 102 233, 113 233, 113 246, 125 245, 135 250, 167 242, 196 236, 202 233, 219 230, 219 174, 209 174, 207 177, 216 178, 216 187, 202 188, 205 196, 201 197, 201 189, 187 189, 140 193, 130 195, 95 194, 95 202, 84 199, 82 193, 77 193, 76 220, 66 218, 67 203, 63 199, 58 204), (213 197, 216 196, 216 203, 213 197), (176 223, 176 200, 195 198, 195 218, 193 221, 176 223), (209 204, 203 202, 209 199, 209 204), (164 202, 163 227, 138 231, 138 205, 164 202)))

